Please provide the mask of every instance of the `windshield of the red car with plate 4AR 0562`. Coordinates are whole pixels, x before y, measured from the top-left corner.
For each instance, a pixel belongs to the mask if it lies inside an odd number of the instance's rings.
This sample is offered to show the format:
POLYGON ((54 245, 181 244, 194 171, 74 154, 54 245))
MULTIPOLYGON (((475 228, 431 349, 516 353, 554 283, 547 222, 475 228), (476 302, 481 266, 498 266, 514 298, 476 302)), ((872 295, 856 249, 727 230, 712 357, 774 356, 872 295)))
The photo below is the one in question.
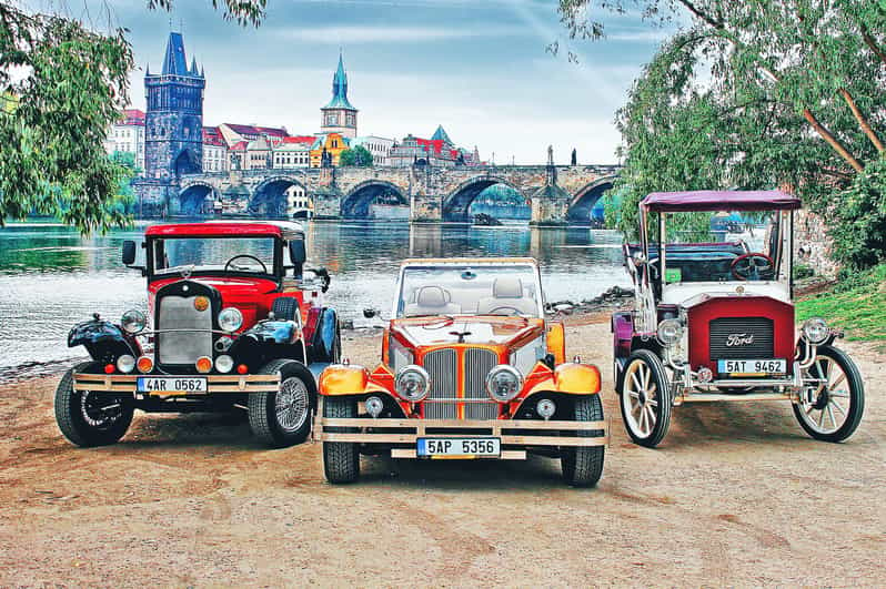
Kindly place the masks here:
POLYGON ((154 273, 223 271, 273 274, 273 237, 174 237, 152 240, 154 273))

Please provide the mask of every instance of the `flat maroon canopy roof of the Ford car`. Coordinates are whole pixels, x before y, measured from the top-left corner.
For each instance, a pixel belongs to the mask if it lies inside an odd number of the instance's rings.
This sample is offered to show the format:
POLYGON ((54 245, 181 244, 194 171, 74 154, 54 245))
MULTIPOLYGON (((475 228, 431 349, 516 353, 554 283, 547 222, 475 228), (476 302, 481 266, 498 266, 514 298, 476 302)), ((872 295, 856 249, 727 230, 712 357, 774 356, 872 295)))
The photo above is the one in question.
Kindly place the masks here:
POLYGON ((692 211, 793 211, 802 206, 799 199, 779 190, 653 192, 643 199, 640 205, 647 211, 664 213, 692 211))

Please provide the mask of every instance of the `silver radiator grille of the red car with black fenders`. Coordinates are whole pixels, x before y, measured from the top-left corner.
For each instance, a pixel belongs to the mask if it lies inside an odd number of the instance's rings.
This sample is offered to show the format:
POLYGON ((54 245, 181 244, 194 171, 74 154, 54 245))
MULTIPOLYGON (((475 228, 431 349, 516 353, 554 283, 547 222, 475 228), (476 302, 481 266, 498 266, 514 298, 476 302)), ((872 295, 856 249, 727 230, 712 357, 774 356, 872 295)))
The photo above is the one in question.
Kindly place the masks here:
POLYGON ((194 297, 164 296, 157 316, 157 362, 194 364, 200 356, 212 357, 212 311, 197 311, 194 297), (163 333, 164 329, 200 329, 163 333))

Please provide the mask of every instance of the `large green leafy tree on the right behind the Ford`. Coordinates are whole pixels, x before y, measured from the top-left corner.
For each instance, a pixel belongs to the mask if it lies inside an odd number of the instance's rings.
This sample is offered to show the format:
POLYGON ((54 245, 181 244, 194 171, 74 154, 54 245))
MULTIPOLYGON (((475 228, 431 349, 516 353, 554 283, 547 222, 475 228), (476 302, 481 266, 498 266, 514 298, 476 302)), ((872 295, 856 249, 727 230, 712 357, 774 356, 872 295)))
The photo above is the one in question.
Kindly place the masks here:
MULTIPOLYGON (((653 24, 683 11, 692 26, 667 40, 617 114, 625 190, 622 227, 633 231, 647 192, 709 187, 795 191, 838 223, 844 245, 879 247, 877 215, 886 109, 883 0, 562 0, 577 37, 605 37, 606 13, 640 10, 653 24), (600 17, 597 19, 597 17, 600 17), (858 197, 858 194, 867 194, 858 197), (850 205, 850 200, 854 204, 850 205), (865 227, 863 230, 863 227, 865 227), (864 244, 864 245, 862 245, 864 244)), ((879 200, 882 202, 882 199, 879 200)))

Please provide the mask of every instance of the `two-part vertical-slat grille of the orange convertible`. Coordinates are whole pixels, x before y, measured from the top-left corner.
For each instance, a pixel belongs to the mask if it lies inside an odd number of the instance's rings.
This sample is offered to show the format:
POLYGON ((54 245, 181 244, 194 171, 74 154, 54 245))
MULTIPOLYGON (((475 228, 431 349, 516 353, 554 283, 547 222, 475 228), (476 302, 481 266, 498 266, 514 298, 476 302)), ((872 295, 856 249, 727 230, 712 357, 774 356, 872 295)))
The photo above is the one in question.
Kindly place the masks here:
MULTIPOLYGON (((499 404, 486 395, 486 375, 499 362, 495 353, 489 349, 467 348, 464 351, 464 398, 486 403, 465 403, 466 419, 494 419, 499 415, 499 404)), ((459 404, 451 400, 459 397, 459 355, 455 349, 437 349, 424 357, 424 369, 431 377, 429 399, 449 399, 444 403, 425 403, 424 416, 429 419, 456 419, 459 404)))

